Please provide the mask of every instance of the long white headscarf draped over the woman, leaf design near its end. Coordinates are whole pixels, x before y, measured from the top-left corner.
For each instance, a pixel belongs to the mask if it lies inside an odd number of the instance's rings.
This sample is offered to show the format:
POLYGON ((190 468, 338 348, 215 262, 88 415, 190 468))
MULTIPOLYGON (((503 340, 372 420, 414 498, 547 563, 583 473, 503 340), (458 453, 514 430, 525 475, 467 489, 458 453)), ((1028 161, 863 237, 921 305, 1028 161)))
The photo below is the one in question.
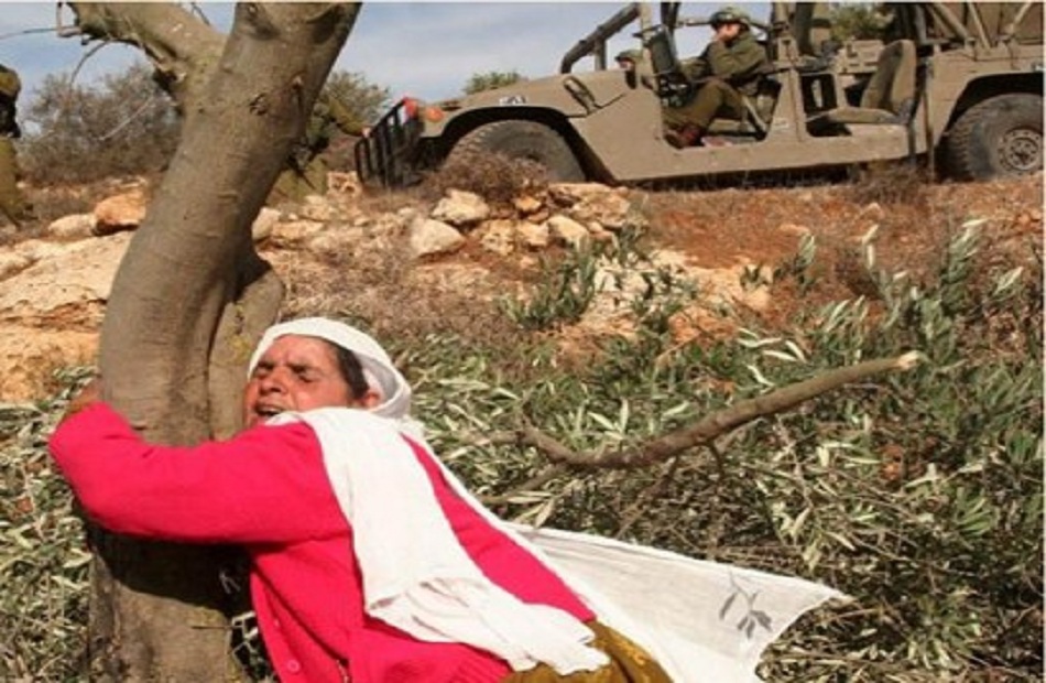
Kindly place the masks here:
POLYGON ((591 631, 569 614, 530 605, 491 583, 461 548, 432 485, 404 440, 422 445, 458 496, 556 572, 603 624, 646 648, 677 683, 758 680, 762 651, 795 619, 837 590, 807 581, 590 534, 532 529, 494 517, 437 458, 410 420, 411 388, 367 334, 325 318, 266 330, 250 361, 277 337, 327 339, 353 351, 382 395, 364 412, 325 408, 284 413, 269 424, 304 421, 319 438, 371 616, 418 638, 462 642, 513 670, 546 663, 560 674, 606 662, 591 631))

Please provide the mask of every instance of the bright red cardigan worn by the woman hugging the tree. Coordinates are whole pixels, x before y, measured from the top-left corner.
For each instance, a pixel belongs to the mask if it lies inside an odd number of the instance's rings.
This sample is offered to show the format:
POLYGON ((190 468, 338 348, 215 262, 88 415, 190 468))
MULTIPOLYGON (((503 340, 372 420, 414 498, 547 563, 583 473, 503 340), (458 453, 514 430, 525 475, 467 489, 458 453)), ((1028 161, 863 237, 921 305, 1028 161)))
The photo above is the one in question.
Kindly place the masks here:
MULTIPOLYGON (((418 641, 363 612, 352 530, 319 442, 305 423, 258 426, 194 447, 149 444, 112 409, 66 419, 51 452, 87 513, 117 533, 235 543, 252 560, 251 598, 273 668, 285 683, 492 683, 491 654, 418 641)), ((412 444, 461 545, 497 584, 530 603, 592 618, 563 582, 455 495, 412 444)))

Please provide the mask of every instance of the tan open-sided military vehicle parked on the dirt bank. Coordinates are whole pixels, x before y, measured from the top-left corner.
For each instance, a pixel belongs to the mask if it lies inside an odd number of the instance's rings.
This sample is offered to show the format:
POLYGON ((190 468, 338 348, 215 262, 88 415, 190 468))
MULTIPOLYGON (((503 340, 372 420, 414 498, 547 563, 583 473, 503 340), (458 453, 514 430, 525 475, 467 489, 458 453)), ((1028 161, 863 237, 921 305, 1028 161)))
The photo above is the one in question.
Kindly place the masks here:
MULTIPOLYGON (((1043 4, 880 3, 883 40, 831 40, 827 2, 773 2, 753 30, 772 67, 716 147, 676 149, 662 107, 690 87, 679 46, 708 23, 683 3, 631 3, 563 57, 555 76, 438 102, 405 98, 355 148, 364 183, 396 186, 476 151, 543 164, 551 180, 613 184, 917 159, 962 180, 1043 167, 1043 4), (641 51, 635 72, 608 43, 641 51), (577 71, 581 59, 593 68, 577 71)), ((715 6, 698 4, 704 11, 715 6)), ((689 51, 687 51, 689 52, 689 51)))

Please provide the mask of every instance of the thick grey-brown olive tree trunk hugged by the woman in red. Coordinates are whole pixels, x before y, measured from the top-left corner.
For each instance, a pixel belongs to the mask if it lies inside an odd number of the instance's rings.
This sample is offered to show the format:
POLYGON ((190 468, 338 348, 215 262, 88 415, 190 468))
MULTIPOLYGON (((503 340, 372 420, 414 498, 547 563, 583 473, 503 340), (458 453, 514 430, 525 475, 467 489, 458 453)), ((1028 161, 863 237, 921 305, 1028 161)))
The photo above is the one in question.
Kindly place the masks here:
MULTIPOLYGON (((140 45, 187 115, 101 330, 106 399, 149 440, 236 427, 250 343, 282 299, 251 224, 359 9, 243 3, 224 39, 174 6, 74 7, 84 34, 140 45)), ((91 680, 239 677, 219 576, 229 551, 92 535, 91 680)))

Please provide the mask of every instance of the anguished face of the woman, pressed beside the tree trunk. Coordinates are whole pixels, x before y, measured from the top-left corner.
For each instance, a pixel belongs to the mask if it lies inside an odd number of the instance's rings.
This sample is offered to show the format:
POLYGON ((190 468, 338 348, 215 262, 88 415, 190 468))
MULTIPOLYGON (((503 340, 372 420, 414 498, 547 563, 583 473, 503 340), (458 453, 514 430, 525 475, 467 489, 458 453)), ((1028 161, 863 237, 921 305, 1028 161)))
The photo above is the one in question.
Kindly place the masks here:
POLYGON ((276 338, 251 372, 243 391, 243 425, 250 427, 285 411, 314 408, 370 408, 373 397, 353 399, 338 368, 335 348, 302 335, 276 338))

